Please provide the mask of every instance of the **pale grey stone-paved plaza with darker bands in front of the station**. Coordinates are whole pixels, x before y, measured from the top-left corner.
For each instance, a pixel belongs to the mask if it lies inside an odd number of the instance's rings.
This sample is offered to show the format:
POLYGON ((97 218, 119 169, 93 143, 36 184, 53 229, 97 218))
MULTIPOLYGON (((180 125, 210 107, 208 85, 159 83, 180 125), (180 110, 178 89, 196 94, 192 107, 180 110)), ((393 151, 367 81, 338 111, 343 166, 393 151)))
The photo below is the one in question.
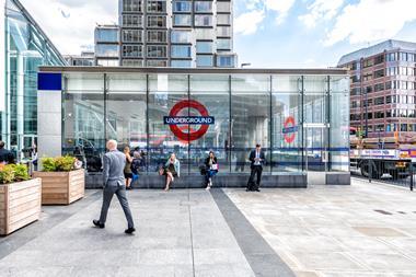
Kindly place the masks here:
POLYGON ((307 189, 101 191, 0 238, 0 276, 416 276, 415 193, 355 180, 307 189))

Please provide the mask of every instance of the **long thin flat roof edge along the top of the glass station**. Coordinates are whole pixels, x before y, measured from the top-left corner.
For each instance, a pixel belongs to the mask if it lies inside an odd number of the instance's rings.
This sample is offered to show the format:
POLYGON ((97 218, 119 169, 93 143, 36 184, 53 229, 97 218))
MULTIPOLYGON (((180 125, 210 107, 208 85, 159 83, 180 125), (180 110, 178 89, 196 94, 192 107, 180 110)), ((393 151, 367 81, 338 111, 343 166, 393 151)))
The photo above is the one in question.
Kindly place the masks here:
POLYGON ((59 67, 42 66, 41 72, 84 72, 84 73, 177 73, 177 74, 327 74, 347 76, 343 68, 328 69, 262 69, 262 68, 137 68, 137 67, 59 67))

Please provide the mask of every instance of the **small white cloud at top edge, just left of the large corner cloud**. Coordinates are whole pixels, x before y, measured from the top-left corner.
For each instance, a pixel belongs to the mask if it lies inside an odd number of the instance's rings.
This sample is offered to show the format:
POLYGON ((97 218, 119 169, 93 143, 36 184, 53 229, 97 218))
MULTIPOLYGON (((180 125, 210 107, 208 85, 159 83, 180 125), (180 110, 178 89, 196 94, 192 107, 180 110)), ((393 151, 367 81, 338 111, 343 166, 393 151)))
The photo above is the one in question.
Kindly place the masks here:
POLYGON ((309 13, 300 15, 298 19, 309 28, 316 26, 321 21, 332 20, 339 11, 344 0, 315 0, 308 7, 309 13))

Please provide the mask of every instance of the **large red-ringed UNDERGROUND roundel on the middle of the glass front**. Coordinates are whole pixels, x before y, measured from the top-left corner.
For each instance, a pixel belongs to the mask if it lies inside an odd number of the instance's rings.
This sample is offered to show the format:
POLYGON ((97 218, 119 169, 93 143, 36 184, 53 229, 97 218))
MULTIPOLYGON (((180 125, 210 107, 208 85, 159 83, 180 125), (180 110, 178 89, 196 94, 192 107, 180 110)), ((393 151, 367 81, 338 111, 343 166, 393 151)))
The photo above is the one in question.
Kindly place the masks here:
POLYGON ((176 103, 169 116, 163 117, 163 123, 169 125, 171 131, 176 136, 176 138, 184 141, 193 141, 201 138, 209 128, 209 125, 215 124, 213 116, 209 116, 208 109, 195 100, 184 100, 176 103), (186 108, 194 108, 199 113, 199 116, 178 116, 181 112, 186 108), (199 125, 198 129, 193 129, 190 127, 183 128, 180 125, 199 125), (187 129, 188 132, 184 130, 187 129))

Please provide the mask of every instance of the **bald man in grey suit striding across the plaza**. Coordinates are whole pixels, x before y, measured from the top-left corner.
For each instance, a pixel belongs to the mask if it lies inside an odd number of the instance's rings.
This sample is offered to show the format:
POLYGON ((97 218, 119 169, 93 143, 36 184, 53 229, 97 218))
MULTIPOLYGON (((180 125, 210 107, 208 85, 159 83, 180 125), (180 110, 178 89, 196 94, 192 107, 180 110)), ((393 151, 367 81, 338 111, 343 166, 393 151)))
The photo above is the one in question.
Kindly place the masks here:
POLYGON ((103 206, 101 208, 100 220, 93 220, 94 226, 99 228, 105 227, 109 204, 112 203, 113 195, 117 195, 124 213, 126 216, 128 228, 125 233, 131 234, 136 231, 135 223, 132 222, 131 211, 128 207, 126 197, 126 182, 124 178, 124 168, 126 164, 126 155, 117 150, 117 141, 107 141, 108 152, 105 153, 103 163, 103 206))

